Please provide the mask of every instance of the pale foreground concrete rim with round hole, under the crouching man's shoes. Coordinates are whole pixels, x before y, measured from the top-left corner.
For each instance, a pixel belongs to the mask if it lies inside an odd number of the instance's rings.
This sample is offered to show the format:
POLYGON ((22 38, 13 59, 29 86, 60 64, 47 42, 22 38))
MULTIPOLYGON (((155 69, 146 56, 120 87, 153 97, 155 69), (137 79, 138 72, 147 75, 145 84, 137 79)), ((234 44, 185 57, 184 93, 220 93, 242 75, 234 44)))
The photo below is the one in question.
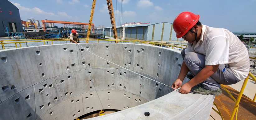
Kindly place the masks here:
POLYGON ((119 112, 99 116, 96 118, 90 118, 88 120, 111 120, 111 119, 140 119, 140 120, 155 120, 155 119, 208 119, 211 109, 209 105, 212 105, 214 96, 204 96, 195 94, 180 94, 178 91, 173 91, 166 96, 159 99, 152 100, 145 104, 135 106, 131 109, 122 110, 119 112), (178 101, 179 99, 173 96, 191 97, 189 101, 178 101), (197 98, 197 99, 195 99, 197 98), (172 100, 170 100, 172 99, 172 100), (173 101, 173 99, 177 99, 173 101), (205 103, 204 106, 198 103, 205 103), (192 109, 193 108, 193 109, 192 109), (195 110, 194 110, 195 109, 195 110), (144 113, 149 112, 149 116, 145 116, 144 113), (199 112, 199 113, 198 113, 199 112))

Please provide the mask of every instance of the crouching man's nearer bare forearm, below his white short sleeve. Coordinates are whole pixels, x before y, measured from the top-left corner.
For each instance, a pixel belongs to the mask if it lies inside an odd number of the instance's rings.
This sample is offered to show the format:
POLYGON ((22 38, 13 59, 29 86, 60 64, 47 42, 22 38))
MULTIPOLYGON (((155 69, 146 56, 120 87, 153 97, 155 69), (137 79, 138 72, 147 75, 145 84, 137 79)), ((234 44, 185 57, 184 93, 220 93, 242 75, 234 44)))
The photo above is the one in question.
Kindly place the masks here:
POLYGON ((187 83, 194 87, 197 84, 205 81, 207 78, 211 77, 212 74, 214 74, 217 71, 217 68, 219 65, 206 65, 205 68, 203 68, 194 78, 192 78, 187 83))

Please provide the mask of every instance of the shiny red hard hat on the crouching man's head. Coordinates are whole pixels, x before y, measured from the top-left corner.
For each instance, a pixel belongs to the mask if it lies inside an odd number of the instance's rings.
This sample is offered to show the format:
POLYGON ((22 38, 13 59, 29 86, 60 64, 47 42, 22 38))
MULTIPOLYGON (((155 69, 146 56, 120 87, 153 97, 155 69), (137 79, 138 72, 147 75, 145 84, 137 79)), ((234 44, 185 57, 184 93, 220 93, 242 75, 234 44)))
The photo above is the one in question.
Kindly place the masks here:
POLYGON ((192 12, 182 12, 173 21, 173 29, 177 38, 184 36, 199 20, 200 16, 192 12))

